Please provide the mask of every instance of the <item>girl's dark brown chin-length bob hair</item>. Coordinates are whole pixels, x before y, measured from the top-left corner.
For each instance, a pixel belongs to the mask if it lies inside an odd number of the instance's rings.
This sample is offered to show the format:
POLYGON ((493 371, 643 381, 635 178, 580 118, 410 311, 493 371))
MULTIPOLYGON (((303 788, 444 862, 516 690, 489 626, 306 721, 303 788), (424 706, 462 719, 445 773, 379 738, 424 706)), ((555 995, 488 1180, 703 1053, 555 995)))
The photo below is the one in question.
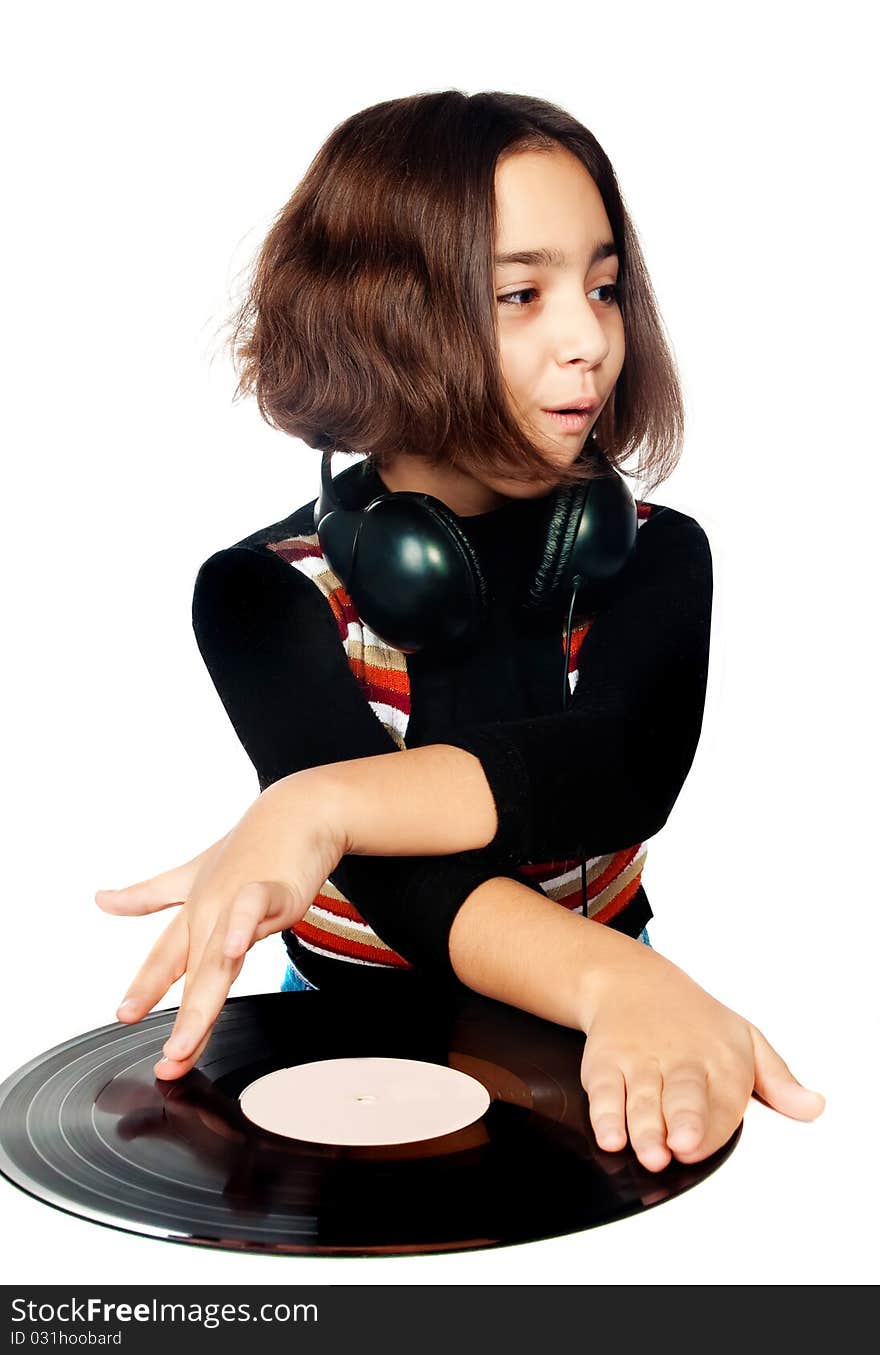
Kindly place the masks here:
POLYGON ((405 451, 521 482, 607 474, 586 451, 552 465, 514 417, 500 371, 495 169, 556 146, 595 182, 620 260, 625 359, 594 444, 621 472, 637 451, 632 474, 660 484, 681 455, 683 401, 635 228, 595 137, 526 95, 419 93, 334 129, 232 317, 233 398, 254 394, 273 427, 369 455, 380 473, 405 451))

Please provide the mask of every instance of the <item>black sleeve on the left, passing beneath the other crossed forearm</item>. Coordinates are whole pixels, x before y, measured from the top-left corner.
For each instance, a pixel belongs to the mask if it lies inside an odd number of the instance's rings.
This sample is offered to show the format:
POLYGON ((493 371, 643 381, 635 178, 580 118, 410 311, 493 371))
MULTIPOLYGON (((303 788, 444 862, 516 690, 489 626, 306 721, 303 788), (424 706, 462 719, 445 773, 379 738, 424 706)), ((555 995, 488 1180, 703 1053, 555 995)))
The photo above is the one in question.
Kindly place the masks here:
MULTIPOLYGON (((212 556, 195 581, 193 626, 260 790, 348 759, 385 766, 397 753, 351 673, 325 600, 277 556, 247 547, 212 556)), ((488 790, 487 797, 491 808, 488 790)), ((494 854, 452 850, 442 859, 415 848, 401 856, 347 855, 331 878, 389 946, 416 966, 449 974, 453 917, 473 889, 498 875, 545 897, 494 854)))

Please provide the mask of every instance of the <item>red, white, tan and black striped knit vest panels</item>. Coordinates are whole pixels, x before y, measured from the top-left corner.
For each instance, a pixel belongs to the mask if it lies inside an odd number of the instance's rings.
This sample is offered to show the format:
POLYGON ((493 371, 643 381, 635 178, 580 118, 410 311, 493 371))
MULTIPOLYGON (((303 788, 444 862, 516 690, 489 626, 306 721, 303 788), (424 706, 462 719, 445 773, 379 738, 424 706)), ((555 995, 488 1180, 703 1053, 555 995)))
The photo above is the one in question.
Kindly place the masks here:
MULTIPOLYGON (((637 526, 651 515, 651 504, 636 501, 637 526)), ((332 572, 321 551, 317 534, 301 534, 270 542, 268 549, 304 573, 321 591, 336 618, 339 640, 348 665, 361 684, 377 720, 399 748, 405 748, 409 722, 409 678, 405 654, 393 649, 358 617, 340 579, 332 572)), ((571 633, 568 687, 578 686, 578 656, 594 618, 575 622, 571 633)), ((563 654, 565 626, 560 630, 563 654)), ((641 843, 606 856, 587 858, 587 916, 607 923, 629 902, 641 882, 645 848, 641 843)), ((583 913, 580 858, 521 862, 519 870, 537 882, 549 897, 572 913, 583 913)), ((412 965, 386 946, 354 904, 328 879, 324 882, 301 921, 292 927, 301 946, 332 959, 385 969, 412 969, 412 965)))

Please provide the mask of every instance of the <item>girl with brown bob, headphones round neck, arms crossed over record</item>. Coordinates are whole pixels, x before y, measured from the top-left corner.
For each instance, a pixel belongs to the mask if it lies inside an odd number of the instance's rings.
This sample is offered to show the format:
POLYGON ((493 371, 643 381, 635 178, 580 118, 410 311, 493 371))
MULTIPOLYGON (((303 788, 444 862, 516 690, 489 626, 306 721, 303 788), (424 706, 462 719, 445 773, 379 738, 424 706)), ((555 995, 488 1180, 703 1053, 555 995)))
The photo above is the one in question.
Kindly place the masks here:
POLYGON ((325 455, 319 500, 199 570, 197 640, 262 794, 191 862, 96 896, 180 905, 118 1011, 186 976, 157 1076, 195 1064, 282 931, 287 989, 464 984, 583 1030, 597 1141, 649 1169, 715 1152, 753 1092, 820 1114, 647 943, 712 561, 617 472, 639 449, 656 488, 683 419, 595 138, 496 92, 354 115, 270 230, 233 351, 267 421, 365 459, 334 481, 325 455))

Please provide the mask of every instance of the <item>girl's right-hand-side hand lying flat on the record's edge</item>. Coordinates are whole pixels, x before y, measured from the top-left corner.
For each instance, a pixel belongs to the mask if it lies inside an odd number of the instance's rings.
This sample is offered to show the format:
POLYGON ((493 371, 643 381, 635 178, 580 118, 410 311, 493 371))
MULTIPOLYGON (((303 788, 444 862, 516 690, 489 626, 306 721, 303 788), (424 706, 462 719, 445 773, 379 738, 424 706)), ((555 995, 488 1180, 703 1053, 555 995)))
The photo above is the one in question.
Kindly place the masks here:
POLYGON ((792 1119, 824 1110, 755 1026, 656 951, 606 976, 587 1028, 580 1076, 597 1142, 616 1152, 629 1131, 648 1171, 709 1157, 753 1092, 792 1119))

